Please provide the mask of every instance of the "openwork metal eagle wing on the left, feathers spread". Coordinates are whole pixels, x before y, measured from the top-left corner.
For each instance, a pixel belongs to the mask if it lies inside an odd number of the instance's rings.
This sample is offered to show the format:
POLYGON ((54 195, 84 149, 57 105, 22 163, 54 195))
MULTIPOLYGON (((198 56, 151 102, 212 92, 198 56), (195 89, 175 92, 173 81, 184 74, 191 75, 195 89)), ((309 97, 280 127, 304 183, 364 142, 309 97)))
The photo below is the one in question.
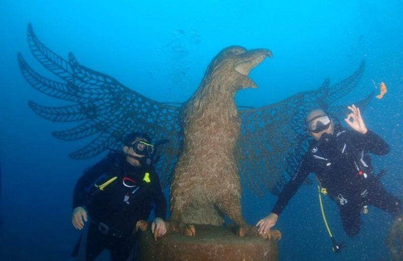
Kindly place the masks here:
POLYGON ((167 185, 182 142, 180 106, 149 99, 108 75, 86 68, 73 53, 69 53, 68 60, 63 59, 39 41, 30 24, 28 42, 34 57, 59 80, 50 80, 36 73, 19 53, 24 78, 41 93, 72 103, 47 107, 29 101, 29 107, 51 121, 79 122, 73 128, 52 133, 60 140, 92 138, 87 145, 70 153, 70 157, 86 159, 108 149, 120 150, 128 133, 144 132, 154 141, 170 141, 157 150, 159 160, 155 166, 162 184, 167 185))

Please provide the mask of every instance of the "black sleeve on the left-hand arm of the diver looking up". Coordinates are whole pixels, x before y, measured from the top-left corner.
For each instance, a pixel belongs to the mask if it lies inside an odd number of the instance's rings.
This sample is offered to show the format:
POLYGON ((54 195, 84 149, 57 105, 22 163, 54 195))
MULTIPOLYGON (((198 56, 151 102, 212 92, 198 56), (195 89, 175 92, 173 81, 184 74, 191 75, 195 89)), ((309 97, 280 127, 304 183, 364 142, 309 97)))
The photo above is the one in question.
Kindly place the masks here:
POLYGON ((99 175, 105 173, 108 167, 110 167, 110 158, 111 157, 107 157, 84 171, 83 176, 79 178, 74 188, 73 209, 83 207, 86 204, 89 199, 89 192, 87 191, 87 188, 94 183, 99 175))

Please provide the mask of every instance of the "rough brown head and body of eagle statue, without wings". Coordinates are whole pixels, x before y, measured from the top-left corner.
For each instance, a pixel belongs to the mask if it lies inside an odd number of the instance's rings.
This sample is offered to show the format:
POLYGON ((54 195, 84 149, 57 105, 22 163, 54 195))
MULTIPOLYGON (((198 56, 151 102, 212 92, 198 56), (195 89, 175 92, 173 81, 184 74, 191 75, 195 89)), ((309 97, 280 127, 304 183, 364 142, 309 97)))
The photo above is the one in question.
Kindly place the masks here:
POLYGON ((171 220, 222 225, 226 214, 236 224, 244 224, 235 156, 240 120, 234 96, 239 89, 255 87, 247 73, 268 55, 271 52, 265 49, 222 50, 184 104, 183 148, 171 186, 171 220))

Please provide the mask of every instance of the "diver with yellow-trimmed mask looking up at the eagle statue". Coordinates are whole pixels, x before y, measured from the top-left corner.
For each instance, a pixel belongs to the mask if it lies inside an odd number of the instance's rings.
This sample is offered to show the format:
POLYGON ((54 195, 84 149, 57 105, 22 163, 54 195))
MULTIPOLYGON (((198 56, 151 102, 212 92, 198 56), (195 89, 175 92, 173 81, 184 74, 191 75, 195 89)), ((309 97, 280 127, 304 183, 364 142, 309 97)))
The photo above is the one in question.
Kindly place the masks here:
MULTIPOLYGON (((82 230, 90 217, 85 242, 86 260, 108 249, 112 260, 131 260, 135 255, 139 221, 148 219, 153 204, 151 229, 156 238, 166 233, 167 203, 152 166, 155 149, 143 133, 128 135, 123 152, 109 153, 85 170, 74 189, 72 223, 82 230)), ((79 253, 81 235, 72 256, 79 253)))

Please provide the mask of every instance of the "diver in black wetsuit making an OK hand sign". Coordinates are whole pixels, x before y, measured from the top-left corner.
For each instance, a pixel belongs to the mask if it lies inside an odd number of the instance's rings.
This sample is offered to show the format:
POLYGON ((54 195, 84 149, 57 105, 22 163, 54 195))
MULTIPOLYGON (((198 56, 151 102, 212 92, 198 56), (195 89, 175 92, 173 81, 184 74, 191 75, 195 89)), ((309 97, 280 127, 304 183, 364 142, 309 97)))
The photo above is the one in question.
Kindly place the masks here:
POLYGON ((319 184, 337 203, 343 227, 349 236, 360 229, 363 207, 372 205, 391 215, 401 214, 401 202, 383 188, 372 171, 368 153, 386 155, 388 145, 367 129, 360 109, 352 105, 345 121, 353 129, 333 124, 322 110, 311 111, 306 118, 307 132, 315 139, 300 162, 295 175, 280 193, 272 213, 256 226, 260 233, 270 230, 302 182, 315 173, 319 184))

